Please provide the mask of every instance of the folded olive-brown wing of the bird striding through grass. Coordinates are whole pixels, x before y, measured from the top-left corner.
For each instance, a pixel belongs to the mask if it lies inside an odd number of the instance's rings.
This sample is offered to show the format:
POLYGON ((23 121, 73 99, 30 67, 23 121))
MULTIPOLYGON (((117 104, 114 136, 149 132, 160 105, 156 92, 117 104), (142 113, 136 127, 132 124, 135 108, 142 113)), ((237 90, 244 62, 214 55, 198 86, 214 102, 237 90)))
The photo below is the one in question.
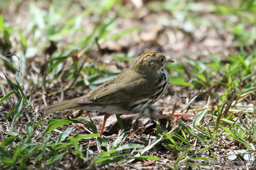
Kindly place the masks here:
POLYGON ((111 104, 129 102, 152 96, 161 89, 161 85, 158 85, 158 80, 153 81, 153 83, 150 81, 150 83, 140 76, 131 80, 124 78, 125 74, 121 77, 120 75, 99 86, 90 95, 87 94, 76 98, 72 103, 111 104))

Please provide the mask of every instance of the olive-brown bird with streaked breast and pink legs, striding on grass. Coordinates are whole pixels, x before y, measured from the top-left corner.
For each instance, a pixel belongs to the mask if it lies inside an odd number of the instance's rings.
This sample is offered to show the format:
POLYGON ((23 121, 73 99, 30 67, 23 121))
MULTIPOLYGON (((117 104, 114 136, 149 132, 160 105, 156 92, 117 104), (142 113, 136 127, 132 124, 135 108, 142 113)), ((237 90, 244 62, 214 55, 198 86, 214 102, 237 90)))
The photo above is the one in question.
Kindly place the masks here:
POLYGON ((155 115, 159 108, 152 105, 164 94, 169 82, 164 72, 164 65, 168 63, 174 63, 174 61, 160 53, 142 54, 131 68, 124 70, 115 78, 84 96, 44 107, 44 114, 48 115, 65 109, 103 112, 105 115, 100 137, 110 114, 132 114, 132 119, 142 117, 152 120, 168 117, 189 119, 188 117, 194 115, 185 113, 155 115))

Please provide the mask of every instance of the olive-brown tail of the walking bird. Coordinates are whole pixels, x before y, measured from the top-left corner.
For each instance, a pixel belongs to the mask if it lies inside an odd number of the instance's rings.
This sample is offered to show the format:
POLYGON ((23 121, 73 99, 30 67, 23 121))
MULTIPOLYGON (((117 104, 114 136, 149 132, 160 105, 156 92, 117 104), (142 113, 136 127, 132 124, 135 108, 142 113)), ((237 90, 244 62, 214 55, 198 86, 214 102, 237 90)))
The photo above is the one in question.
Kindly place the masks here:
POLYGON ((42 109, 44 109, 44 114, 48 115, 50 113, 55 113, 60 110, 72 109, 78 105, 79 104, 72 103, 72 100, 66 100, 66 101, 62 101, 60 103, 56 103, 47 107, 43 107, 42 109))

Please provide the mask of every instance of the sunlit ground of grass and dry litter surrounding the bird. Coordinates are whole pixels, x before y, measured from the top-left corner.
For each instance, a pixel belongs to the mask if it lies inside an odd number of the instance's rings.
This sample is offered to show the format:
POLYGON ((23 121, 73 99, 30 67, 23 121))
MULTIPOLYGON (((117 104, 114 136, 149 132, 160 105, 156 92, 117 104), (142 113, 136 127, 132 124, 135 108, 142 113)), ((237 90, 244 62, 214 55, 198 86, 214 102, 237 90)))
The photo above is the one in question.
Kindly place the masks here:
MULTIPOLYGON (((255 0, 1 0, 0 167, 107 169, 116 161, 108 169, 124 169, 136 159, 134 164, 157 165, 152 169, 216 169, 218 164, 198 160, 227 160, 228 154, 255 164, 255 53, 255 0), (43 115, 46 104, 82 96, 152 51, 175 61, 165 66, 168 89, 154 106, 164 114, 184 108, 199 115, 193 128, 192 121, 149 119, 133 127, 128 117, 123 122, 134 131, 126 140, 122 133, 90 146, 100 118, 84 125, 70 118, 87 112, 43 115), (152 162, 138 161, 144 159, 152 162)), ((124 129, 120 119, 110 118, 109 127, 124 129)))

